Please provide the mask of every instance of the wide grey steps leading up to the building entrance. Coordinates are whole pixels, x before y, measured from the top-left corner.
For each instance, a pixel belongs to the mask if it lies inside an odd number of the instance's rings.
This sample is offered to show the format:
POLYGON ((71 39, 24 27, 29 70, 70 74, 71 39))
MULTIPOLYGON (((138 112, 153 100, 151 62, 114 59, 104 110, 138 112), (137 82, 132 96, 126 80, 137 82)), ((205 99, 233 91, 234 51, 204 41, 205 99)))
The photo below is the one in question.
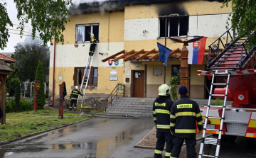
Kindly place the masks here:
MULTIPOLYGON (((112 101, 112 106, 107 108, 106 113, 112 115, 134 115, 140 117, 152 117, 153 103, 156 98, 133 98, 118 97, 112 101)), ((193 98, 192 98, 193 99, 193 98)), ((208 105, 208 99, 193 99, 200 107, 208 105)), ((232 102, 228 101, 227 106, 232 102)))

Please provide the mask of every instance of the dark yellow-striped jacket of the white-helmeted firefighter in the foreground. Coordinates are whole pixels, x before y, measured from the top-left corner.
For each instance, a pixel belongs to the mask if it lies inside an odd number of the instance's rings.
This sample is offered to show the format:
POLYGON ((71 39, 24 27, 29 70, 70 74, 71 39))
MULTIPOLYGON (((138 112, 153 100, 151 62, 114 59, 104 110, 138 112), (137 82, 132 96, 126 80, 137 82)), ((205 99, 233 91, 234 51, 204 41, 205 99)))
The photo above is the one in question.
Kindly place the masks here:
POLYGON ((159 96, 153 103, 153 118, 156 132, 170 132, 170 112, 174 101, 170 96, 159 96))

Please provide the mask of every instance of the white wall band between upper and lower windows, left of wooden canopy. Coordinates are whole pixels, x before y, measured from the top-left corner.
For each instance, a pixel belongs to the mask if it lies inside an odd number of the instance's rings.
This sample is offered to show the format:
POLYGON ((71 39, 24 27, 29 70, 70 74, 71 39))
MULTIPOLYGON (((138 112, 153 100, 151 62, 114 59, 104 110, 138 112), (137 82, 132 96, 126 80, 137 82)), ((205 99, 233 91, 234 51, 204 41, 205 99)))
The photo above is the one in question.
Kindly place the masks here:
MULTIPOLYGON (((55 67, 85 67, 89 57, 90 43, 75 45, 56 45, 55 67)), ((124 50, 124 43, 98 43, 93 59, 93 67, 107 67, 107 62, 102 62, 106 57, 124 50), (108 46, 109 45, 109 46, 108 46), (107 50, 109 47, 109 50, 107 50), (99 52, 103 55, 99 55, 99 52)), ((50 46, 50 67, 53 67, 54 46, 50 46)), ((119 60, 119 67, 123 66, 123 60, 119 60)))

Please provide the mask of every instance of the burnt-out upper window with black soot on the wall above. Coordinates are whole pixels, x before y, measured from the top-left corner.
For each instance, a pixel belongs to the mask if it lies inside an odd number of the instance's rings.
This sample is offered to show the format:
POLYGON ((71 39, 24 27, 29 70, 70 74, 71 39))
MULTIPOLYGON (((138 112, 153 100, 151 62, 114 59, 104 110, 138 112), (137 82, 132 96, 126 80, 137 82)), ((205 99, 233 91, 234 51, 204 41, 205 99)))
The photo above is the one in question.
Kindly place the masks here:
MULTIPOLYGON (((159 36, 165 37, 165 18, 159 18, 159 36)), ((167 19, 167 37, 187 36, 188 16, 171 17, 167 19)))

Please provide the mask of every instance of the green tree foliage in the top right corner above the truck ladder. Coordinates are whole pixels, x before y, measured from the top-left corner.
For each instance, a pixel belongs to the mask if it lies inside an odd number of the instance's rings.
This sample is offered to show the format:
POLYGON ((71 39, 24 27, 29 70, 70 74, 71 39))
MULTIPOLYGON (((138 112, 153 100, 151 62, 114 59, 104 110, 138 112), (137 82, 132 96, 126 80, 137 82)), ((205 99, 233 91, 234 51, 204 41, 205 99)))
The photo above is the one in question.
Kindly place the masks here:
MULTIPOLYGON (((222 7, 228 7, 230 0, 225 0, 222 7)), ((248 36, 256 31, 256 4, 255 0, 232 0, 231 7, 233 15, 231 18, 232 28, 237 30, 239 36, 248 36)), ((231 14, 230 14, 231 16, 231 14)), ((230 18, 228 18, 230 20, 230 18)), ((248 45, 254 47, 256 34, 250 36, 248 45)))

